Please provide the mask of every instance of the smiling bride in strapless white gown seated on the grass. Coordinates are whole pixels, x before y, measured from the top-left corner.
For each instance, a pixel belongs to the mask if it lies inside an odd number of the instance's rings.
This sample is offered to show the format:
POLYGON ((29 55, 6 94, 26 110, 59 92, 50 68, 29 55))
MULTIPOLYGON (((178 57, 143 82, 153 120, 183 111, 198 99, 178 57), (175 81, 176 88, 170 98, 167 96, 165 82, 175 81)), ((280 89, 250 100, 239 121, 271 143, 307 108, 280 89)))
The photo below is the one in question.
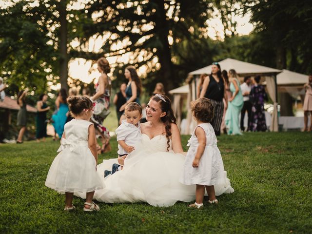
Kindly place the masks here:
MULTIPOLYGON (((165 207, 176 201, 195 199, 195 185, 179 182, 185 156, 170 99, 164 95, 153 96, 146 114, 148 122, 141 124, 141 140, 124 159, 123 170, 104 178, 104 170, 110 170, 117 159, 103 160, 98 165, 97 172, 105 188, 97 190, 94 199, 106 203, 147 202, 165 207)), ((215 195, 233 192, 229 179, 215 185, 215 195)), ((76 195, 83 198, 82 194, 76 195)))

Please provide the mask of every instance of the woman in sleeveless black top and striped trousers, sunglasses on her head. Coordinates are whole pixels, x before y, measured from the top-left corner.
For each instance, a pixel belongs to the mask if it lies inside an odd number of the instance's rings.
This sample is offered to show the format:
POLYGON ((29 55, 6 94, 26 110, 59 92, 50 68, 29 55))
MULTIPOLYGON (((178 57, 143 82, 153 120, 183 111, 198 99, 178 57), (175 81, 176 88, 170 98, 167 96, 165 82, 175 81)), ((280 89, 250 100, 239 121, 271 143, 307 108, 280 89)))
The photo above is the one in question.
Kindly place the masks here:
MULTIPOLYGON (((217 62, 212 64, 211 75, 207 76, 204 80, 200 92, 200 98, 203 97, 209 98, 215 107, 215 115, 211 121, 211 125, 214 127, 215 135, 220 136, 220 127, 224 109, 223 98, 225 98, 226 103, 228 102, 228 98, 225 93, 224 80, 221 76, 221 67, 217 62)), ((225 106, 225 108, 227 108, 227 106, 225 106)))

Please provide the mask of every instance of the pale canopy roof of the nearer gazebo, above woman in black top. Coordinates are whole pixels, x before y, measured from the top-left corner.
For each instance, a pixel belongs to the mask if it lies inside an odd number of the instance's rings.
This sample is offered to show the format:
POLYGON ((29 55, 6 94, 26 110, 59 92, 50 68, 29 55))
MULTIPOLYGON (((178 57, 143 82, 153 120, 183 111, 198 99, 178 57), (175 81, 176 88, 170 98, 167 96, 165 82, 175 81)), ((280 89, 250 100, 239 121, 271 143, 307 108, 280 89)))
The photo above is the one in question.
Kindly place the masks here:
MULTIPOLYGON (((234 69, 239 76, 254 76, 254 75, 274 75, 281 72, 281 70, 265 67, 249 62, 243 62, 236 59, 224 59, 218 62, 221 70, 234 69)), ((212 65, 200 68, 196 71, 190 72, 191 75, 201 75, 203 73, 210 74, 212 65)))

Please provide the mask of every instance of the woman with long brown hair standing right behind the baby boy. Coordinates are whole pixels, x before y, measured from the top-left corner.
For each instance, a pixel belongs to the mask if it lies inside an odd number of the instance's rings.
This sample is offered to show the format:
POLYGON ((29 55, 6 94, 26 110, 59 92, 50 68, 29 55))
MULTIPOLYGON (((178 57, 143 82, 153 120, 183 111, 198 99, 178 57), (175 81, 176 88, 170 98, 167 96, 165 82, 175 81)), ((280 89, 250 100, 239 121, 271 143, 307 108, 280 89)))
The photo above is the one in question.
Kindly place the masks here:
MULTIPOLYGON (((128 66, 125 69, 125 78, 129 80, 127 87, 126 87, 126 103, 123 104, 119 111, 124 111, 126 105, 128 105, 130 102, 137 102, 140 103, 140 94, 142 93, 142 82, 141 79, 137 75, 137 71, 133 66, 128 66)), ((121 124, 121 121, 123 119, 126 119, 124 115, 122 115, 119 119, 119 124, 121 124)))

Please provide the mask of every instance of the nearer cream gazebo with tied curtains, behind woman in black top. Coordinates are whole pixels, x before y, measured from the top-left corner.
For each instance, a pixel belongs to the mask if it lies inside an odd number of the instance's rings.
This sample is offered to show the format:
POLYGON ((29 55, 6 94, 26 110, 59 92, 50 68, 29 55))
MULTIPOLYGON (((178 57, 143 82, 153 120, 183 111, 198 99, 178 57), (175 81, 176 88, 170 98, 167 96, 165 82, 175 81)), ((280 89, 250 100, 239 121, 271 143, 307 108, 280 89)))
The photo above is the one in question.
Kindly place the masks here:
MULTIPOLYGON (((276 85, 276 75, 281 73, 281 70, 271 68, 271 67, 265 67, 249 62, 243 62, 236 59, 224 59, 220 62, 221 70, 227 70, 234 69, 237 74, 241 77, 244 76, 257 76, 260 75, 262 77, 265 77, 266 83, 267 83, 267 89, 268 93, 270 95, 270 98, 273 100, 274 103, 274 111, 272 115, 272 122, 270 125, 270 130, 273 132, 277 132, 278 130, 278 120, 277 120, 277 85, 276 85)), ((212 65, 200 68, 198 70, 195 70, 193 72, 190 72, 189 75, 193 76, 193 79, 189 83, 189 91, 188 91, 188 102, 187 104, 190 105, 190 102, 192 100, 196 99, 196 81, 197 78, 201 74, 210 74, 211 73, 211 67, 212 65)), ((185 86, 182 86, 185 89, 185 86)), ((181 87, 180 87, 181 88, 181 87)), ((173 91, 173 90, 172 90, 173 91)), ((171 92, 171 91, 170 91, 171 92)), ((170 93, 169 92, 169 93, 170 93)), ((174 93, 173 93, 174 94, 174 93)), ((175 102, 175 101, 174 101, 175 102)), ((181 105, 181 104, 180 104, 181 105)), ((191 134, 193 131, 193 127, 195 125, 194 121, 192 121, 192 113, 191 108, 188 106, 188 114, 187 114, 187 129, 185 131, 181 131, 182 134, 191 134)), ((181 110, 174 110, 175 115, 179 116, 181 115, 181 110)))

